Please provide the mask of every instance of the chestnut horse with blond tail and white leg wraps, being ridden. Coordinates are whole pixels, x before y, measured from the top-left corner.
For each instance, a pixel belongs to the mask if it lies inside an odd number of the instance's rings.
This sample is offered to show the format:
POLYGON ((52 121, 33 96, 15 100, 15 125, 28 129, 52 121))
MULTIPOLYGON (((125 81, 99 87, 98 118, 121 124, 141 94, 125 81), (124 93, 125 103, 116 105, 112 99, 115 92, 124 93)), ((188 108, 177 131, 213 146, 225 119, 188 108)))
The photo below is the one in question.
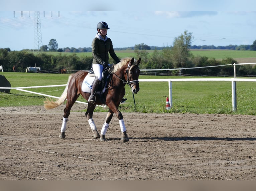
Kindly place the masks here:
MULTIPOLYGON (((109 123, 113 117, 113 114, 115 113, 120 124, 121 128, 121 140, 126 142, 129 141, 128 135, 126 133, 126 127, 123 120, 123 115, 119 111, 118 106, 120 104, 121 99, 125 95, 125 85, 127 84, 130 88, 132 93, 137 94, 139 91, 139 65, 140 58, 136 61, 134 58, 125 58, 122 59, 118 64, 114 65, 114 67, 111 68, 111 75, 109 80, 106 83, 106 90, 103 93, 103 98, 101 95, 96 94, 96 102, 95 104, 92 104, 88 102, 87 111, 85 113, 87 120, 89 122, 89 125, 93 131, 93 136, 95 138, 100 138, 100 141, 105 141, 105 134, 107 132, 107 129, 109 128, 109 123), (103 124, 103 127, 101 129, 101 135, 99 134, 97 127, 93 120, 93 111, 96 107, 96 104, 106 104, 109 107, 108 114, 105 119, 105 123, 103 124)), ((89 74, 89 71, 78 71, 75 74, 71 74, 69 76, 69 80, 67 83, 67 86, 60 96, 60 98, 57 101, 52 101, 46 99, 44 101, 44 107, 45 109, 51 109, 55 108, 59 105, 61 105, 66 99, 66 107, 64 109, 64 115, 62 120, 62 126, 60 129, 60 138, 65 138, 65 131, 67 128, 67 121, 68 117, 70 115, 70 110, 79 95, 81 94, 87 101, 90 96, 90 93, 86 93, 82 91, 82 84, 85 79, 85 77, 89 74)), ((90 74, 91 75, 91 74, 90 74)), ((89 77, 89 75, 88 75, 89 77)), ((91 77, 94 79, 94 77, 91 77)), ((88 85, 88 82, 84 81, 86 85, 88 85)), ((91 87, 91 85, 88 85, 91 87)))

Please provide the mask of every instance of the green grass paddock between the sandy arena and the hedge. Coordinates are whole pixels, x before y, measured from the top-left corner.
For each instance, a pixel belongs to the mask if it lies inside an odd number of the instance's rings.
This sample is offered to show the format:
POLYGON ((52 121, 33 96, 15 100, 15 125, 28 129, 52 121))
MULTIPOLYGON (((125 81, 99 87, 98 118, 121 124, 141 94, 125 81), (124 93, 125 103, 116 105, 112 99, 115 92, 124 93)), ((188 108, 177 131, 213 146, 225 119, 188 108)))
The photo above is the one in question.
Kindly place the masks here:
MULTIPOLYGON (((66 84, 69 75, 33 74, 3 72, 1 75, 12 87, 45 86, 66 84)), ((140 76, 140 79, 168 79, 188 77, 140 76)), ((189 77, 191 78, 191 77, 189 77)), ((192 77, 200 78, 200 77, 192 77)), ((46 95, 60 96, 65 87, 27 89, 46 95)), ((128 100, 120 104, 121 112, 156 113, 225 113, 256 115, 256 84, 237 82, 237 111, 232 111, 231 82, 172 82, 172 108, 165 110, 169 96, 168 82, 140 82, 140 91, 133 96, 125 86, 128 100)), ((10 94, 0 93, 0 106, 43 105, 45 96, 11 90, 10 94)), ((79 101, 86 102, 81 96, 79 101)), ((85 106, 86 107, 86 106, 85 106)), ((107 111, 97 107, 96 111, 107 111)))

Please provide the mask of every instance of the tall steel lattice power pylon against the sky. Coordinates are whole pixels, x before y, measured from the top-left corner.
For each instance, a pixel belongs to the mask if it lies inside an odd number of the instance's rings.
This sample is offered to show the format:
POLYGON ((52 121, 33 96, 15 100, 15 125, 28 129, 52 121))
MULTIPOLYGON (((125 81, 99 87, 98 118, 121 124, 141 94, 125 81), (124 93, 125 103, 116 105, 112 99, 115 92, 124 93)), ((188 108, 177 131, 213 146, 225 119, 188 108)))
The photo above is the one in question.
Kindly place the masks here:
POLYGON ((40 47, 43 46, 40 11, 35 11, 34 42, 35 42, 35 49, 39 51, 40 47))

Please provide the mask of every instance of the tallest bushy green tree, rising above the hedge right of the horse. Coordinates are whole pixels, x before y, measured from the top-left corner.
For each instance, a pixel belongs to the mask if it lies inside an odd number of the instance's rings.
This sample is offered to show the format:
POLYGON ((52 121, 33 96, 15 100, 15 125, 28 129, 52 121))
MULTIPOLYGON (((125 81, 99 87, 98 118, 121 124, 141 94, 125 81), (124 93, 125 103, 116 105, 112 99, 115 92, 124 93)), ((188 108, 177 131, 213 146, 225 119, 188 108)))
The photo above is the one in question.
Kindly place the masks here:
POLYGON ((186 67, 189 64, 188 60, 191 56, 189 47, 193 40, 192 33, 184 31, 179 37, 176 37, 172 47, 172 62, 174 68, 186 67))

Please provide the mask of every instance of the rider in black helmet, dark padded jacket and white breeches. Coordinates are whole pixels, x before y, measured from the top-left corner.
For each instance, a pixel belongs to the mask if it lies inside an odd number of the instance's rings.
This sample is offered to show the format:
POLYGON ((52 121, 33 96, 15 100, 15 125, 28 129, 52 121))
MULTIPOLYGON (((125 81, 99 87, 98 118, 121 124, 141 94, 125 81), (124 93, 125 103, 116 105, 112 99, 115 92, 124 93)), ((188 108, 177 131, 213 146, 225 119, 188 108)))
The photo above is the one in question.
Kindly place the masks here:
MULTIPOLYGON (((100 81, 102 80, 101 73, 105 68, 108 69, 110 66, 108 53, 116 63, 120 62, 119 58, 116 56, 116 53, 114 51, 111 39, 107 37, 108 29, 109 27, 106 22, 99 22, 97 24, 98 33, 96 34, 96 37, 93 39, 92 42, 92 68, 95 74, 95 79, 93 82, 93 87, 88 102, 91 102, 93 104, 96 101, 95 94, 100 84, 100 81)), ((121 102, 124 102, 125 100, 126 98, 122 99, 121 102)))

